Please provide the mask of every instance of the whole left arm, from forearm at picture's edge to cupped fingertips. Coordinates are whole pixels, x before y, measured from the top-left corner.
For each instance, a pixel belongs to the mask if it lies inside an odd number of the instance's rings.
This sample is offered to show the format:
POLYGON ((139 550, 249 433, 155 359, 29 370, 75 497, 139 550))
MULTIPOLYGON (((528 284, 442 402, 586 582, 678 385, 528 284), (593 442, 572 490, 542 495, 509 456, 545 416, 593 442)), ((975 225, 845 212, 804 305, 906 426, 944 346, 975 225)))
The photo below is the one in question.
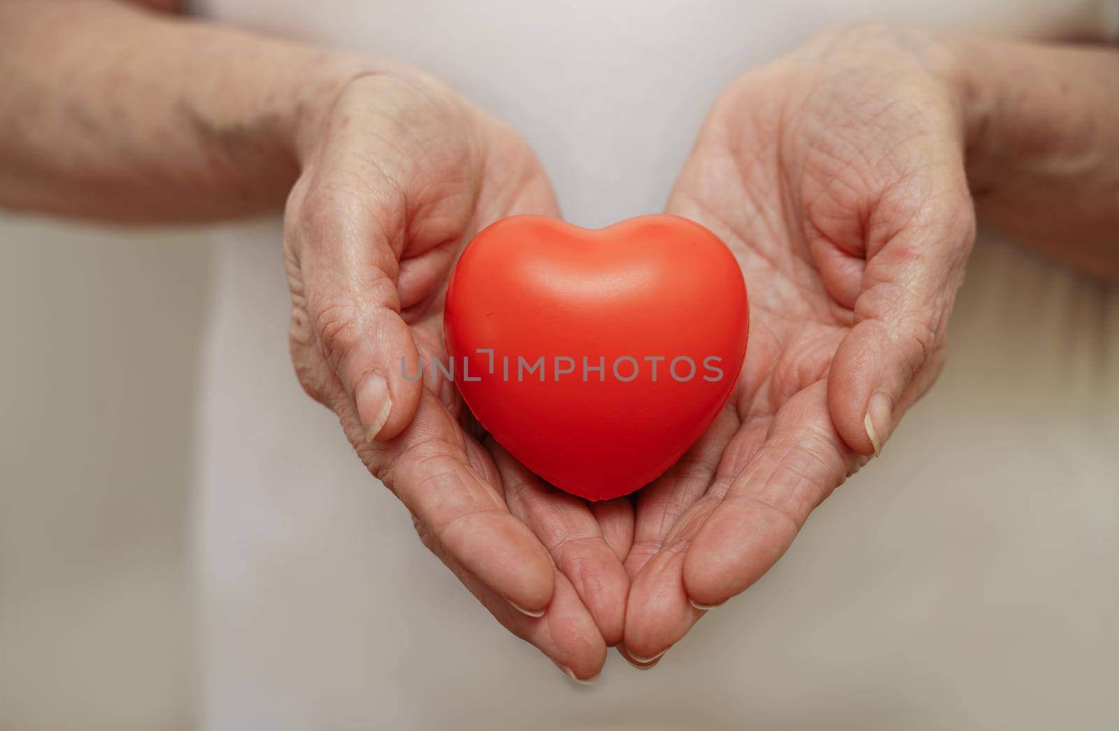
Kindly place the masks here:
POLYGON ((459 250, 502 216, 556 215, 514 132, 413 68, 109 1, 0 2, 0 206, 208 221, 288 196, 303 387, 506 627, 599 672, 632 507, 592 513, 495 447, 499 472, 432 367, 459 250))

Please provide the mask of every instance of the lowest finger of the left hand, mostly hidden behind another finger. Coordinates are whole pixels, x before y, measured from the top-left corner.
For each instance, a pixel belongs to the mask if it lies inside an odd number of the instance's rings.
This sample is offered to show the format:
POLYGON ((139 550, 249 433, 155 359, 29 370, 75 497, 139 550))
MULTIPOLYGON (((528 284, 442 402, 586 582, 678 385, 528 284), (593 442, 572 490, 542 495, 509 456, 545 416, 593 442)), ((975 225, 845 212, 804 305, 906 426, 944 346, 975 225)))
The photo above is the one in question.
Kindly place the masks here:
POLYGON ((580 683, 593 683, 598 678, 606 659, 606 644, 566 577, 553 570, 555 592, 552 606, 543 617, 529 617, 511 608, 486 582, 467 571, 444 546, 424 532, 422 524, 417 523, 416 529, 424 545, 440 557, 502 627, 538 648, 571 678, 580 683))

